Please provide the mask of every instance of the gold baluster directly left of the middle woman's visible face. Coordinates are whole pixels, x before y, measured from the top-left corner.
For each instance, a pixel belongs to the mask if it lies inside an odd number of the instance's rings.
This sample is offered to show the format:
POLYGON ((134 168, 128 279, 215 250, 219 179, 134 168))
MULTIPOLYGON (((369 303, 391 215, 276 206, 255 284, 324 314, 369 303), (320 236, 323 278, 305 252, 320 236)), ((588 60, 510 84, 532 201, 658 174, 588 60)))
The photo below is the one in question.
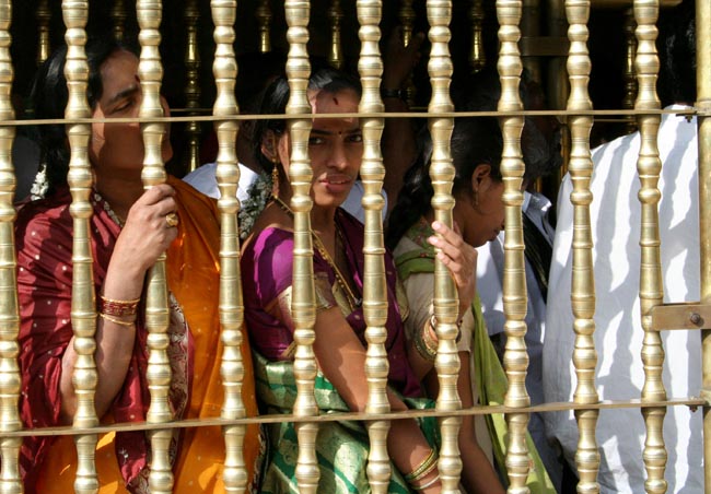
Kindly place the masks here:
MULTIPOLYGON (((287 39, 289 40, 289 58, 287 75, 289 78, 289 104, 287 114, 311 113, 306 98, 308 86, 308 15, 311 5, 307 0, 287 0, 287 39)), ((294 414, 298 416, 314 416, 318 414, 314 397, 314 379, 316 378, 316 358, 314 356, 314 322, 316 306, 314 298, 314 250, 311 238, 311 179, 313 177, 308 158, 308 136, 312 121, 310 118, 292 118, 287 122, 291 139, 291 161, 289 179, 293 190, 291 209, 294 211, 294 274, 291 311, 294 321, 294 377, 296 380, 296 402, 294 414)), ((296 481, 301 493, 316 494, 318 490, 318 463, 316 459, 316 423, 296 424, 299 438, 299 460, 296 464, 296 481)))

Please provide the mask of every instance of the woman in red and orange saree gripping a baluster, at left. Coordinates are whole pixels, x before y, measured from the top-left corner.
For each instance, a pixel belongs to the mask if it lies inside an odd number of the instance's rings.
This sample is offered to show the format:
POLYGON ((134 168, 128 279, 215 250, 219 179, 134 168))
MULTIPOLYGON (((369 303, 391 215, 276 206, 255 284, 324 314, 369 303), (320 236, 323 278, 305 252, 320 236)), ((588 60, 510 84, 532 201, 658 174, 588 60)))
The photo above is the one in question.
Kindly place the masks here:
MULTIPOLYGON (((61 118, 67 104, 66 48, 40 69, 33 97, 37 118, 61 118)), ((142 92, 138 59, 113 42, 90 42, 88 99, 95 118, 137 117, 142 92)), ((167 108, 165 108, 167 111, 167 108)), ((67 186, 69 150, 63 126, 42 126, 46 197, 19 212, 18 285, 21 306, 20 408, 27 427, 71 423, 77 396, 71 383, 77 353, 71 327, 72 237, 67 186)), ((167 137, 163 160, 172 149, 167 137)), ((211 199, 168 177, 143 189, 143 143, 138 124, 92 124, 89 156, 94 173, 90 221, 98 314, 95 407, 102 423, 145 420, 150 401, 144 280, 167 250, 172 370, 168 401, 176 420, 219 416, 221 342, 218 306, 219 222, 211 199)), ((36 188, 37 190, 38 188, 36 188)), ((243 400, 256 414, 248 344, 243 400)), ((260 439, 247 431, 244 457, 255 491, 260 439)), ((224 443, 220 427, 175 430, 171 444, 174 492, 223 492, 224 443)), ((96 467, 101 492, 148 492, 150 444, 144 432, 100 437, 96 467)), ((73 440, 28 437, 21 451, 26 492, 68 492, 77 470, 73 440)))

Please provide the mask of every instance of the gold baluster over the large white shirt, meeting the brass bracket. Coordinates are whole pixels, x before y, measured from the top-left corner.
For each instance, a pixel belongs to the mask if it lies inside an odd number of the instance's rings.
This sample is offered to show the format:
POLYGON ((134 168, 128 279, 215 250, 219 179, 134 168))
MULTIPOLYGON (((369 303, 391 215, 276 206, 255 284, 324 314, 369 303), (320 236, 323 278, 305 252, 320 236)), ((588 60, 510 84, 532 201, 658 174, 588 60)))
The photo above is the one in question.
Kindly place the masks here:
MULTIPOLYGON (((637 20, 637 69, 639 94, 634 104, 636 109, 658 110, 660 101, 656 97, 656 77, 660 61, 656 56, 657 30, 654 23, 658 16, 657 0, 634 0, 634 19, 637 20)), ((657 184, 662 170, 662 162, 657 148, 656 133, 660 128, 658 115, 640 115, 640 156, 637 169, 640 177, 639 200, 642 207, 640 220, 641 266, 640 266, 640 311, 644 340, 642 343, 642 363, 644 364, 644 387, 642 401, 665 400, 666 390, 662 381, 662 365, 664 364, 664 348, 662 337, 652 330, 650 310, 663 303, 662 261, 660 255, 660 220, 657 207, 660 190, 657 184)), ((666 468, 666 449, 664 447, 663 425, 665 407, 642 408, 646 426, 644 440, 644 468, 646 481, 644 486, 650 494, 666 492, 664 470, 666 468)))

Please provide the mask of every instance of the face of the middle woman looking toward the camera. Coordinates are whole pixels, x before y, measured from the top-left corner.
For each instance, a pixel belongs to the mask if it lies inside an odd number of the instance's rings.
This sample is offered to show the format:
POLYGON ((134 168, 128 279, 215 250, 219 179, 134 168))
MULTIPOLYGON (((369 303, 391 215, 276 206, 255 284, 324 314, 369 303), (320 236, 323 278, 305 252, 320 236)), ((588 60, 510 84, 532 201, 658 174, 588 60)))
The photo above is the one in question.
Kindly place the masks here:
MULTIPOLYGON (((310 91, 314 114, 358 111, 358 94, 352 90, 338 93, 310 91)), ((289 173, 291 152, 288 133, 279 140, 279 158, 289 173)), ((320 208, 339 207, 358 178, 363 157, 363 136, 358 118, 315 118, 308 138, 313 169, 312 197, 320 208)))

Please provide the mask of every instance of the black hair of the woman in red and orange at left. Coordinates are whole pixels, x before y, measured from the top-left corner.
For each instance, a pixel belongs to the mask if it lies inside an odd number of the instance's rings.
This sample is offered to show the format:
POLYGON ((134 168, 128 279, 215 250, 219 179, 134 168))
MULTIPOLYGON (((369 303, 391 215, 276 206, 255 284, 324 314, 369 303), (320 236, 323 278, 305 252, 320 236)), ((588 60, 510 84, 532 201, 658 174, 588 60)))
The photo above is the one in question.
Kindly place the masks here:
MULTIPOLYGON (((93 109, 104 91, 101 75, 102 64, 116 51, 136 51, 129 45, 118 43, 109 36, 88 40, 84 50, 89 66, 86 101, 90 108, 93 109)), ((30 93, 31 110, 35 118, 65 118, 65 109, 69 99, 67 79, 65 78, 66 61, 67 46, 61 46, 37 70, 30 93)), ((49 195, 57 186, 67 184, 70 151, 65 125, 37 126, 35 139, 42 150, 42 162, 46 166, 49 186, 47 193, 49 195)))

